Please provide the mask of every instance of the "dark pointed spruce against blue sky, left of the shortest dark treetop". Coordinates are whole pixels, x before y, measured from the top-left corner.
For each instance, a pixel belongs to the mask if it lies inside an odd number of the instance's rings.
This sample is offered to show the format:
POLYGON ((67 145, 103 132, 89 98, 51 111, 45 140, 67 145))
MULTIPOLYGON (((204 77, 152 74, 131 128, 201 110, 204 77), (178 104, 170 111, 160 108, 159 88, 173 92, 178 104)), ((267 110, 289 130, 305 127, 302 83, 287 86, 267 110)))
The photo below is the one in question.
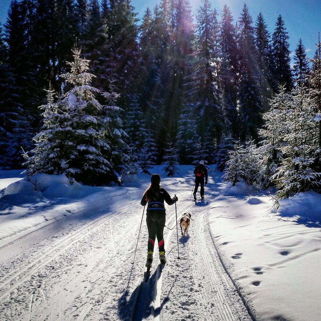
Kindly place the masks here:
POLYGON ((275 30, 272 35, 273 41, 273 60, 275 63, 275 80, 280 85, 285 85, 286 90, 291 90, 293 87, 291 58, 289 50, 289 36, 284 21, 279 15, 275 23, 275 30))

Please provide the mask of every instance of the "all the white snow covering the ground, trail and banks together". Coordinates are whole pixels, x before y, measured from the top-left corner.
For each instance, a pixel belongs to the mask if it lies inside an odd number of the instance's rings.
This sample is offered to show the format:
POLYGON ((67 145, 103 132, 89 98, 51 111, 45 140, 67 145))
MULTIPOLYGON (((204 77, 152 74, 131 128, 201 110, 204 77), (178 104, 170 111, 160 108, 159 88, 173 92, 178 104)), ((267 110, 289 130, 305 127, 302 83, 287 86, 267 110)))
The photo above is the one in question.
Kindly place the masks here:
POLYGON ((163 167, 151 172, 178 196, 178 219, 193 220, 177 248, 175 205, 166 206, 168 263, 160 272, 155 245, 147 283, 145 219, 131 263, 149 175, 89 187, 1 171, 0 319, 319 320, 321 195, 277 207, 273 189, 232 186, 211 166, 205 199, 194 203, 194 167, 178 166, 173 178, 163 167))

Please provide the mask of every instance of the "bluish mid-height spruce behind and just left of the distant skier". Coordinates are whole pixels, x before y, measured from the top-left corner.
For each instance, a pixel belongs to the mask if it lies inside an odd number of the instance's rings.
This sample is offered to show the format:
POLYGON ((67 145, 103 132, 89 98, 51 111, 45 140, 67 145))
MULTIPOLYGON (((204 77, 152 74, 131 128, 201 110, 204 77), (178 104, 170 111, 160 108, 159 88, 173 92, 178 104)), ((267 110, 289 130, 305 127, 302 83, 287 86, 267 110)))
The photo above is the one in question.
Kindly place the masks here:
POLYGON ((186 104, 178 120, 178 134, 176 136, 176 147, 182 164, 190 164, 193 160, 197 134, 197 113, 194 104, 186 104))

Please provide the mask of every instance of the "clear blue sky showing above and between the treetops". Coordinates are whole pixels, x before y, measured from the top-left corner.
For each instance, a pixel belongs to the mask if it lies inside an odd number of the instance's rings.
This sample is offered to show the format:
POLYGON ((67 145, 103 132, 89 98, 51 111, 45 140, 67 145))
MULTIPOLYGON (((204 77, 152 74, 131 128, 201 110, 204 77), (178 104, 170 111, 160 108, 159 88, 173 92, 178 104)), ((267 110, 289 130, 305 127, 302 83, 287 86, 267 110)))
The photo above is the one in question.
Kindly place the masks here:
MULTIPOLYGON (((158 0, 132 0, 135 12, 142 17, 147 7, 153 8, 158 0)), ((197 12, 201 0, 190 0, 192 13, 197 12)), ((0 22, 5 23, 10 0, 0 0, 0 22)), ((212 7, 220 13, 223 5, 227 4, 233 14, 234 21, 238 20, 244 0, 213 0, 212 7)), ((320 0, 247 0, 249 11, 256 20, 256 16, 262 12, 268 28, 271 32, 279 14, 282 15, 287 31, 289 32, 290 49, 293 52, 302 38, 307 49, 307 55, 311 58, 315 52, 318 32, 321 32, 320 0)))

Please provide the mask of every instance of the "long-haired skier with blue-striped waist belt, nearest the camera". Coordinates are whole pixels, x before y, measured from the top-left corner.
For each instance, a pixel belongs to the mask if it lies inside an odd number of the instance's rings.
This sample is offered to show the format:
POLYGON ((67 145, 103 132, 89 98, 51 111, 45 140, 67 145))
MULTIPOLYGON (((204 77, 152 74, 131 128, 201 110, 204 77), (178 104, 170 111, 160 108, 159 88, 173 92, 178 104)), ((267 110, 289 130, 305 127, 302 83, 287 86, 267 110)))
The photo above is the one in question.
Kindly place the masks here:
POLYGON ((164 245, 164 227, 165 227, 165 206, 172 205, 178 200, 177 196, 171 198, 164 188, 160 187, 160 176, 153 174, 151 177, 151 185, 147 188, 141 200, 141 204, 147 206, 147 229, 148 229, 148 244, 147 244, 147 261, 146 267, 150 268, 153 262, 154 243, 157 237, 158 249, 160 254, 160 263, 165 264, 165 245, 164 245))

